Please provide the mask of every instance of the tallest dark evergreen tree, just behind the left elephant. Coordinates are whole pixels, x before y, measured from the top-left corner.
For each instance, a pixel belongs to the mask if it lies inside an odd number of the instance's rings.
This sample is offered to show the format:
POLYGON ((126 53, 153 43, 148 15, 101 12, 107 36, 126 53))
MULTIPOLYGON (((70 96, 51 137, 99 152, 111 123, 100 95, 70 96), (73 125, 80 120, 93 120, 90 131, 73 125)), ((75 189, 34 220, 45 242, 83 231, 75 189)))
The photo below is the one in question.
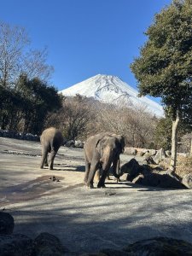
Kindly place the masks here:
POLYGON ((15 92, 24 102, 21 108, 24 132, 39 134, 44 128, 47 114, 61 108, 62 97, 55 87, 38 78, 28 79, 26 75, 20 75, 15 92))

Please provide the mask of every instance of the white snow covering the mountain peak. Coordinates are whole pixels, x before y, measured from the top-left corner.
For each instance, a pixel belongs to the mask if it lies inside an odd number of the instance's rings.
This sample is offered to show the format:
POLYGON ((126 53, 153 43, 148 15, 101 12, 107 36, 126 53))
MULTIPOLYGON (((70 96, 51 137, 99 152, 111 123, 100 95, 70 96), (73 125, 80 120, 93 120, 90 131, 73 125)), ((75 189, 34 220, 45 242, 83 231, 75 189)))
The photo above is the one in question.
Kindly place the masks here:
POLYGON ((154 113, 159 117, 163 116, 163 108, 160 104, 150 100, 147 96, 138 97, 137 90, 112 75, 98 74, 60 92, 64 96, 75 96, 79 94, 93 97, 101 102, 115 103, 118 105, 145 106, 148 112, 154 113))

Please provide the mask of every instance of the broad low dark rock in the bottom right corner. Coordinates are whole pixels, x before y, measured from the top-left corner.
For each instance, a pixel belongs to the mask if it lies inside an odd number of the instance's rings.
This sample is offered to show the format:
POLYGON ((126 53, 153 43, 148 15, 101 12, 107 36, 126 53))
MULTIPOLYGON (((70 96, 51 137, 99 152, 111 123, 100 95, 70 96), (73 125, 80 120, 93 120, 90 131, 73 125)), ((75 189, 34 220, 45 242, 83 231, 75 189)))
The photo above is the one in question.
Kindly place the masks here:
POLYGON ((137 241, 124 248, 128 255, 141 256, 176 256, 176 255, 192 255, 192 245, 183 240, 177 240, 169 237, 154 237, 137 241))

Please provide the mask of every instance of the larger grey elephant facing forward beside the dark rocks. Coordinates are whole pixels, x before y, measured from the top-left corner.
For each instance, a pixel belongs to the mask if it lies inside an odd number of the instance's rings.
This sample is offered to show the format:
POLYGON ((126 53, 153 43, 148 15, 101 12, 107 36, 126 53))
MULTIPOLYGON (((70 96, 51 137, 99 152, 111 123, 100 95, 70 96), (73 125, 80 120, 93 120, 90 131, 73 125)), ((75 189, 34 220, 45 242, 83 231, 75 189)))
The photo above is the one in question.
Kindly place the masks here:
POLYGON ((86 140, 84 183, 87 187, 93 188, 94 176, 100 169, 102 169, 102 176, 99 178, 97 187, 105 187, 105 179, 112 165, 114 177, 119 178, 119 154, 124 152, 124 147, 125 138, 109 132, 96 134, 86 140))

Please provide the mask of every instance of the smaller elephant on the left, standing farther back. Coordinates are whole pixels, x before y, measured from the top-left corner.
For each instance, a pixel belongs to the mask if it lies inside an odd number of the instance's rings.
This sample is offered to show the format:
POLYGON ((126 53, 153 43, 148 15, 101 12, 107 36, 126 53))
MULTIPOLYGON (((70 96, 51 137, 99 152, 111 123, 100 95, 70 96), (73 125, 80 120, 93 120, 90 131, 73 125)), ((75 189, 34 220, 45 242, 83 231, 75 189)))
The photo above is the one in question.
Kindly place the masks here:
POLYGON ((40 137, 40 142, 42 145, 42 159, 40 168, 43 169, 47 166, 47 156, 49 153, 49 170, 53 170, 53 164, 55 159, 55 154, 63 144, 63 137, 61 131, 54 127, 45 129, 40 137))

